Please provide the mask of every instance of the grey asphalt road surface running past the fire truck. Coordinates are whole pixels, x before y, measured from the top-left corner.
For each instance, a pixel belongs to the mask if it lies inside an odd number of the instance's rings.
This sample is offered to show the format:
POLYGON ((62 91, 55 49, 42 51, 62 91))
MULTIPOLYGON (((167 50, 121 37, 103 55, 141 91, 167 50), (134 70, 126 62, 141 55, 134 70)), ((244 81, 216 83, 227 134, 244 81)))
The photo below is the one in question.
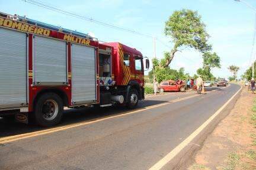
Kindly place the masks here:
MULTIPOLYGON (((148 97, 132 114, 116 107, 67 110, 58 127, 88 123, 0 144, 0 169, 149 169, 239 88, 231 84, 208 88, 213 91, 201 95, 192 92, 148 97), (189 96, 194 97, 183 100, 189 96)), ((45 129, 0 119, 0 141, 40 130, 45 129)))

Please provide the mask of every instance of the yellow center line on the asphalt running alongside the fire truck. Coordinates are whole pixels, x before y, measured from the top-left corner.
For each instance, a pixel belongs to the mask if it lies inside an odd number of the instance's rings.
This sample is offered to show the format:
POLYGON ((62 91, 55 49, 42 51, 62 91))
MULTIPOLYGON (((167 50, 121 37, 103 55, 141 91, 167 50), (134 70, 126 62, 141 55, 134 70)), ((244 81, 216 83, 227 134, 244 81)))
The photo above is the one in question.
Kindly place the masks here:
POLYGON ((46 130, 39 130, 39 131, 36 131, 36 132, 24 133, 24 134, 14 135, 14 136, 7 136, 7 137, 4 137, 4 138, 0 138, 0 144, 4 144, 4 143, 8 143, 8 142, 14 142, 16 140, 31 138, 31 137, 34 137, 34 136, 46 135, 46 134, 53 133, 53 132, 59 132, 59 131, 62 131, 62 130, 76 128, 76 127, 79 127, 79 126, 89 125, 91 123, 102 122, 104 120, 113 119, 113 118, 116 118, 116 117, 132 115, 132 114, 137 113, 137 112, 142 112, 144 110, 165 106, 167 104, 171 104, 171 103, 175 103, 175 102, 180 102, 182 100, 190 99, 190 98, 196 97, 196 96, 199 96, 199 95, 194 94, 193 96, 183 97, 183 98, 180 98, 180 99, 171 100, 169 102, 156 104, 156 105, 153 105, 153 106, 146 106, 143 109, 137 109, 137 110, 134 110, 132 112, 124 112, 124 113, 121 113, 119 115, 104 117, 102 119, 92 120, 92 121, 89 121, 89 122, 73 123, 71 125, 60 126, 60 127, 46 129, 46 130))

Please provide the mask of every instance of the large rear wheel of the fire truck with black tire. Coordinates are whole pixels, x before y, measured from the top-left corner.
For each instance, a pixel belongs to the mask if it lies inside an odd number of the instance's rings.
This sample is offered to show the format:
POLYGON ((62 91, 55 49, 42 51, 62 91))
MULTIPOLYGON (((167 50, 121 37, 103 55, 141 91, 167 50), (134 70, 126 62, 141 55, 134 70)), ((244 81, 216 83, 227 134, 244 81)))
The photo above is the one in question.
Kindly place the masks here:
POLYGON ((34 120, 37 125, 49 127, 60 122, 63 115, 62 99, 55 93, 45 93, 37 99, 34 120))

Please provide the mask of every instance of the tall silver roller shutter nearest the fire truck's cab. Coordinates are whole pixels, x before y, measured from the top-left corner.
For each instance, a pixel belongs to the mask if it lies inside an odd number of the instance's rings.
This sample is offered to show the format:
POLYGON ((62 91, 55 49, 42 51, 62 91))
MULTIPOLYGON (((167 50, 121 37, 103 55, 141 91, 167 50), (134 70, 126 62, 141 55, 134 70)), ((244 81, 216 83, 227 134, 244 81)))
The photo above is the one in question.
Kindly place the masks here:
POLYGON ((96 100, 95 48, 72 44, 72 102, 96 100))

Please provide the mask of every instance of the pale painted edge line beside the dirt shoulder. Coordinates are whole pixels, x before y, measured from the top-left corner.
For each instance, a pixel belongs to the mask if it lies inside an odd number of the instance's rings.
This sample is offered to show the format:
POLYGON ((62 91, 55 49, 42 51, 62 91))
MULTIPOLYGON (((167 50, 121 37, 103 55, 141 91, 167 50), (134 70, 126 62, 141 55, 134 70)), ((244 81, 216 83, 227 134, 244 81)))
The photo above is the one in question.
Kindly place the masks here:
POLYGON ((177 156, 178 153, 180 153, 194 138, 196 138, 196 136, 199 135, 199 133, 203 131, 203 129, 206 128, 206 126, 209 125, 210 122, 212 122, 212 120, 215 119, 215 117, 218 116, 219 113, 222 112, 222 110, 225 109, 225 107, 233 100, 233 98, 242 90, 242 86, 239 84, 238 86, 240 86, 240 89, 236 91, 236 93, 233 94, 233 96, 225 104, 223 104, 222 107, 220 107, 212 116, 210 116, 209 119, 206 120, 206 122, 199 126, 199 128, 191 133, 190 136, 183 140, 183 142, 181 142, 178 146, 172 149, 171 152, 165 155, 164 158, 160 159, 158 162, 156 162, 156 164, 151 166, 149 170, 159 170, 167 165, 168 162, 170 162, 175 156, 177 156))

